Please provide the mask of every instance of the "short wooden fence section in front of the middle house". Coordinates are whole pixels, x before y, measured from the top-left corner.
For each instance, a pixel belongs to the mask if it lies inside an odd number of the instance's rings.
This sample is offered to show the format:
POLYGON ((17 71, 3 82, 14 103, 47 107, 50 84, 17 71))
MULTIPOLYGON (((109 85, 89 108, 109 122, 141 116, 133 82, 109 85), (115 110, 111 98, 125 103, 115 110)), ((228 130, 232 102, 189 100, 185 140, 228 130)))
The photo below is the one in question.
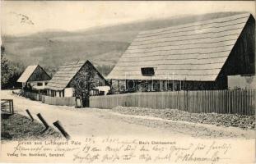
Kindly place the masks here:
POLYGON ((47 103, 49 105, 59 105, 59 106, 76 106, 76 98, 58 98, 42 95, 42 103, 47 103))

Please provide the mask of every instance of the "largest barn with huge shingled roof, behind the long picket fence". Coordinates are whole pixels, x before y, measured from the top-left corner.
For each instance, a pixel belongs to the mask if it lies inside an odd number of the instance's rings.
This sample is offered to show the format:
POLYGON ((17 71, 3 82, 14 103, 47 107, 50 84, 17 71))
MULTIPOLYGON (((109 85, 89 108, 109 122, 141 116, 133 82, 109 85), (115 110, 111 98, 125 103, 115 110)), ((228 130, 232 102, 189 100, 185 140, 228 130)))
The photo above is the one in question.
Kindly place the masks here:
POLYGON ((108 75, 113 92, 227 89, 228 75, 255 74, 249 13, 142 31, 108 75))

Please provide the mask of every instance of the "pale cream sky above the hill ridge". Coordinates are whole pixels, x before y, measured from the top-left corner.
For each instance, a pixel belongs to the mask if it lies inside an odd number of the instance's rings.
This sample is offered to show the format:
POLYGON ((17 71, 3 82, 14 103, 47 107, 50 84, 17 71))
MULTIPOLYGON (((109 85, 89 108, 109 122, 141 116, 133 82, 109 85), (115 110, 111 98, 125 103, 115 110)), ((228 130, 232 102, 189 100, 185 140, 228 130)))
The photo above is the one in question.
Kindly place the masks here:
POLYGON ((46 30, 76 31, 133 21, 219 11, 248 11, 255 17, 254 3, 1 1, 1 32, 19 36, 46 30))

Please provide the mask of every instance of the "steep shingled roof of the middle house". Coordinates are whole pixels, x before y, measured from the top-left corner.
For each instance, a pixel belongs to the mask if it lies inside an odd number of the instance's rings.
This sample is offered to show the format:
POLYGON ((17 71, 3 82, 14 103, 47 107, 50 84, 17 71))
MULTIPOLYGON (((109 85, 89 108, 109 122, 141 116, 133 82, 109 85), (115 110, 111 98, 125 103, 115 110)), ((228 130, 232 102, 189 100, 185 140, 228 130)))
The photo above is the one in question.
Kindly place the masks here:
MULTIPOLYGON (((77 72, 81 70, 81 67, 84 66, 86 63, 90 64, 93 69, 95 69, 95 66, 93 66, 90 61, 67 62, 63 64, 63 66, 59 66, 58 71, 54 74, 52 80, 50 80, 49 83, 46 85, 46 88, 52 90, 65 89, 67 87, 67 84, 69 84, 73 77, 77 75, 77 72)), ((95 69, 95 71, 97 70, 95 69)), ((99 71, 97 72, 98 75, 104 78, 99 71)))

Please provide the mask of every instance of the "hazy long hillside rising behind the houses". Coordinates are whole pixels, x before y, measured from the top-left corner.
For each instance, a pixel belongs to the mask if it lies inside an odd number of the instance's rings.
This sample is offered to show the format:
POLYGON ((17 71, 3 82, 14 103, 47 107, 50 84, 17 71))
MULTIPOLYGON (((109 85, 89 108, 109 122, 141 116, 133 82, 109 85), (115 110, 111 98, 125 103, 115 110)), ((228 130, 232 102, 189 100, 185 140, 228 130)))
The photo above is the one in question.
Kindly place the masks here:
POLYGON ((25 66, 40 64, 47 71, 54 72, 63 62, 88 59, 107 75, 139 31, 238 13, 218 12, 200 16, 176 16, 75 32, 44 31, 22 37, 2 36, 2 44, 9 60, 21 62, 25 66))

